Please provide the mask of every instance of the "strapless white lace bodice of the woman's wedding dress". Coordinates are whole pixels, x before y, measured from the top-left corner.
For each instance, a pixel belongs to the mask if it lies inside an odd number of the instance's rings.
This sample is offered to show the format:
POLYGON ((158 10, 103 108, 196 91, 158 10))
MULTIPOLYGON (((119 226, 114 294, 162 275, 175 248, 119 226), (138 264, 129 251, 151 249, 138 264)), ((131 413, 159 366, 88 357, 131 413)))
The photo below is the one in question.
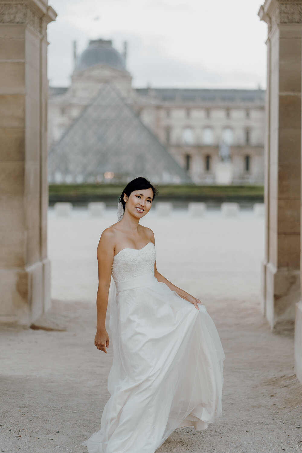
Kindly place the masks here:
POLYGON ((148 242, 142 249, 122 249, 113 258, 111 275, 115 282, 128 280, 154 272, 156 251, 148 242))

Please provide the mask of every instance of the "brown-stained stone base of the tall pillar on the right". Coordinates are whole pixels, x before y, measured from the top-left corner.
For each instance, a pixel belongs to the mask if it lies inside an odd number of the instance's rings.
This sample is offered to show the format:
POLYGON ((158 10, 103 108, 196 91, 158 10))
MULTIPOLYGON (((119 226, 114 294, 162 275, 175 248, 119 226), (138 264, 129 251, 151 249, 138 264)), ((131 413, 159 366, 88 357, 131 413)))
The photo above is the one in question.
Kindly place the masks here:
POLYGON ((295 320, 295 305, 300 300, 300 270, 277 269, 264 264, 263 312, 273 330, 288 330, 295 320))

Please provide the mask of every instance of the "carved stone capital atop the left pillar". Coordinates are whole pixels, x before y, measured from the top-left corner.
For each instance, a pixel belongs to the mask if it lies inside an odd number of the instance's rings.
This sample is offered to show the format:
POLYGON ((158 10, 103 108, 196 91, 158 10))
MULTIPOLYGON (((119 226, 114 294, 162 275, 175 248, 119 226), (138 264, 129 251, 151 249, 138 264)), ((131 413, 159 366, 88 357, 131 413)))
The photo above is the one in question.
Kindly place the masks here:
POLYGON ((24 24, 46 37, 47 24, 57 13, 48 0, 0 0, 0 24, 24 24))

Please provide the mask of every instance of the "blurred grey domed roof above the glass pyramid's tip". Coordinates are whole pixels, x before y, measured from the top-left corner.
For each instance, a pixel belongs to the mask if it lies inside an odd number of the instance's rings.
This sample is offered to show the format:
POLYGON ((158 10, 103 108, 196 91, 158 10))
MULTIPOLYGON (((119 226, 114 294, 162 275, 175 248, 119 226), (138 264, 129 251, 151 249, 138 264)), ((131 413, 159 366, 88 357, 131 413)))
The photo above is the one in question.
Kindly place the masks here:
POLYGON ((77 60, 76 70, 83 71, 97 64, 106 64, 115 69, 125 70, 124 57, 112 47, 112 41, 104 39, 89 42, 88 47, 77 60))

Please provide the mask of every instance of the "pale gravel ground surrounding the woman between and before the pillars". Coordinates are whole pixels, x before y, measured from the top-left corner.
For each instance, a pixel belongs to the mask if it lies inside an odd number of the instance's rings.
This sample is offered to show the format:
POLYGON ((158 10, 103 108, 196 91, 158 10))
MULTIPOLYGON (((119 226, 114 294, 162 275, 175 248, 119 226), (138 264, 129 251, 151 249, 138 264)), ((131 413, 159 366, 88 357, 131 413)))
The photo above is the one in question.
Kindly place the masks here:
MULTIPOLYGON (((85 452, 81 442, 100 427, 112 348, 104 354, 93 344, 95 255, 101 231, 114 221, 50 212, 47 322, 65 330, 1 328, 0 452, 85 452)), ((158 219, 150 212, 144 224, 155 234, 158 270, 206 305, 226 355, 221 418, 205 431, 174 431, 157 452, 302 452, 292 332, 270 332, 259 309, 263 219, 248 212, 158 219)))

